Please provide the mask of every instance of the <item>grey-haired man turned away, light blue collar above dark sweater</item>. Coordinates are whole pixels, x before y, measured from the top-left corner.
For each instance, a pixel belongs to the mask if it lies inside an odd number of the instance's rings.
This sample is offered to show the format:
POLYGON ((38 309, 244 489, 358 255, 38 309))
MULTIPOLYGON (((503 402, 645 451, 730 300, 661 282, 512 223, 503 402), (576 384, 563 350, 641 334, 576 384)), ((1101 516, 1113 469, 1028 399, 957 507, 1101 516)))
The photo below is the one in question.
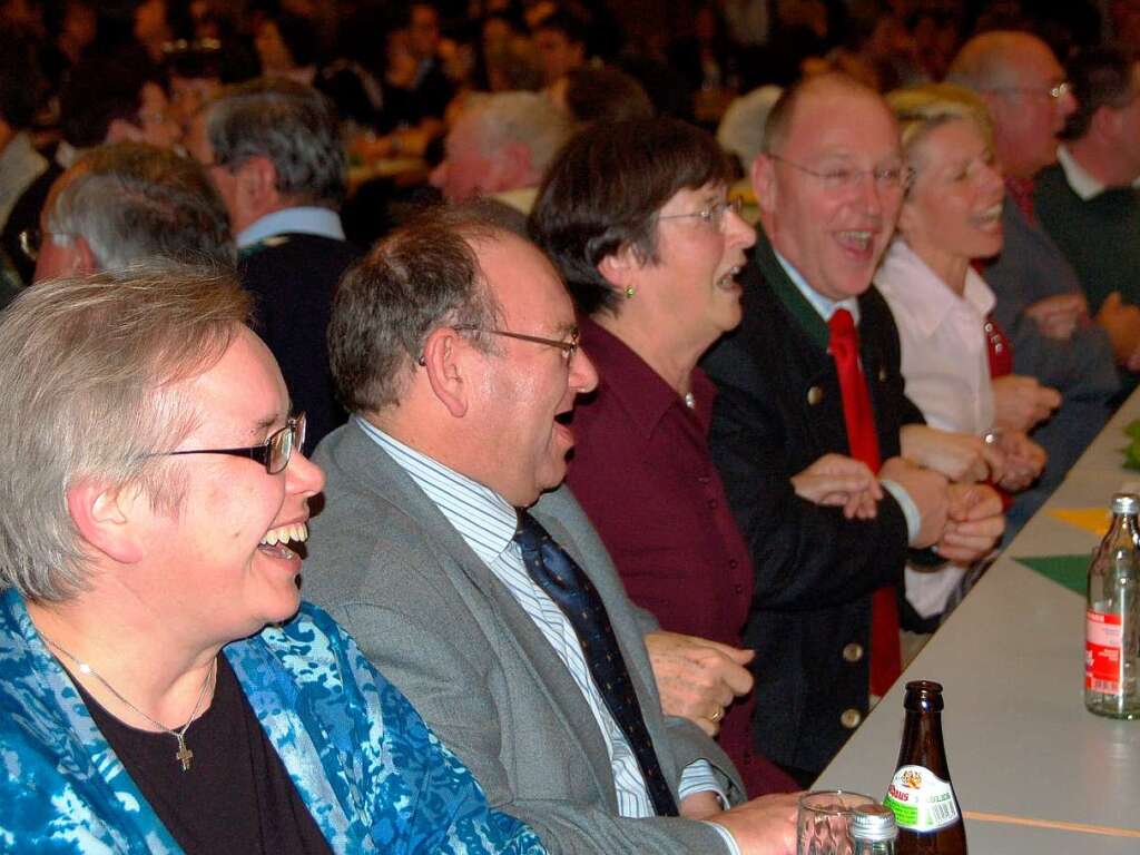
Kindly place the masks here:
POLYGON ((345 418, 325 329, 333 291, 359 255, 337 213, 348 166, 336 111, 311 87, 260 78, 206 104, 187 147, 229 211, 255 328, 308 413, 312 447, 345 418))

